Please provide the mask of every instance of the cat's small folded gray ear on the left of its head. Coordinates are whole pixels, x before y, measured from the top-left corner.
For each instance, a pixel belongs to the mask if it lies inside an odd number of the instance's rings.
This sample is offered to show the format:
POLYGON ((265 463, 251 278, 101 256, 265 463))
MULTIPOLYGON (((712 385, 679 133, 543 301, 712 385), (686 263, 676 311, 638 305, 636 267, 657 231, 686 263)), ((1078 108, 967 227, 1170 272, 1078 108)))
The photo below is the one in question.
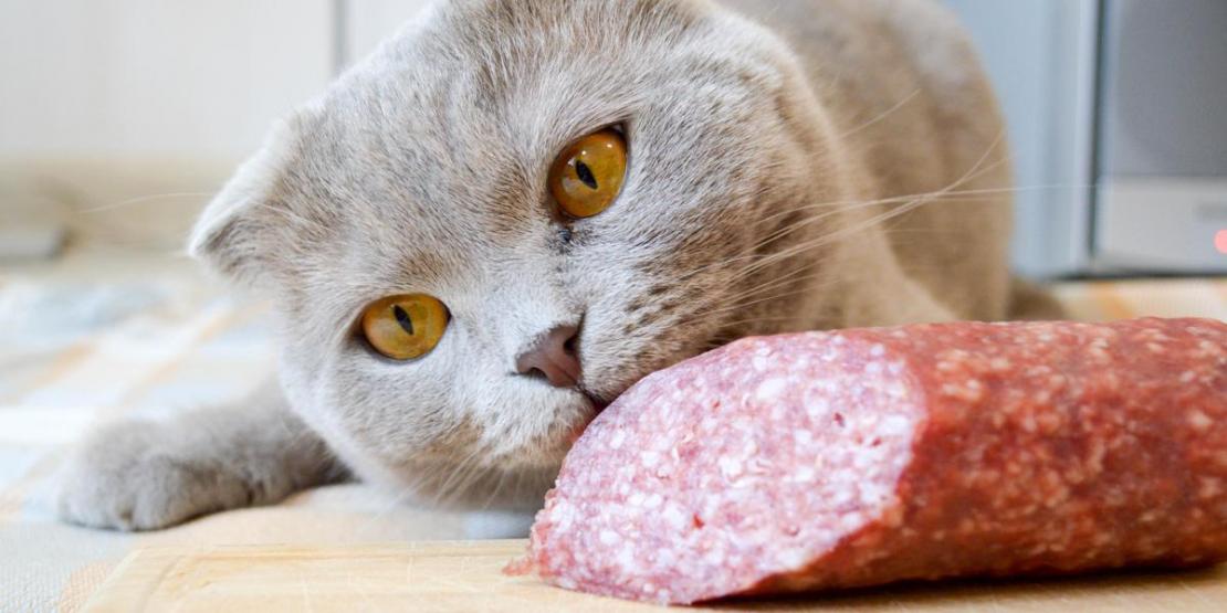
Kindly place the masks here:
POLYGON ((188 242, 188 254, 213 272, 256 284, 269 272, 285 178, 301 150, 304 121, 293 116, 274 125, 259 153, 239 167, 205 207, 188 242))

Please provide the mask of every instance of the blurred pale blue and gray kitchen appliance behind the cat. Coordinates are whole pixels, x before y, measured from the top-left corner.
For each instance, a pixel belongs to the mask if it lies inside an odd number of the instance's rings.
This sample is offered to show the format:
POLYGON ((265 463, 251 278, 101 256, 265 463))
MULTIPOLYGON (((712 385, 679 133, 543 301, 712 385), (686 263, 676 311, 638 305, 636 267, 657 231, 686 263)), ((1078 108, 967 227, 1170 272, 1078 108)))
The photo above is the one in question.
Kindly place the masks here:
POLYGON ((1227 1, 947 2, 1010 119, 1021 270, 1227 273, 1227 1))

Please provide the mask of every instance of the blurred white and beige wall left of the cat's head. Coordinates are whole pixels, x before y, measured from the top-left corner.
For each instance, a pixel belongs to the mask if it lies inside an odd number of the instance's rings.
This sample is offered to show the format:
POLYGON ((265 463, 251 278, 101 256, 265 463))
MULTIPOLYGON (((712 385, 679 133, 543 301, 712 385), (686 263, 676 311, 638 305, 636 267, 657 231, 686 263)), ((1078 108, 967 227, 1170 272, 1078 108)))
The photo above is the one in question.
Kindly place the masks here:
POLYGON ((173 250, 269 125, 421 0, 0 0, 0 256, 173 250))

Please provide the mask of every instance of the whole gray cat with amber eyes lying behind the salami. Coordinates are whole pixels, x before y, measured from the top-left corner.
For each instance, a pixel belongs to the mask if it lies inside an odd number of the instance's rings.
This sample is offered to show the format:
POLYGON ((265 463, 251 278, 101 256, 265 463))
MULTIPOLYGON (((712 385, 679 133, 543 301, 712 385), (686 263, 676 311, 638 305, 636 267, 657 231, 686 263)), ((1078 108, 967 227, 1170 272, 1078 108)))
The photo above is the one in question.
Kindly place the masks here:
POLYGON ((930 0, 437 2, 191 238, 274 302, 280 385, 94 433, 59 511, 152 530, 350 476, 531 510, 685 358, 1025 315, 1048 303, 1007 271, 1002 132, 930 0))

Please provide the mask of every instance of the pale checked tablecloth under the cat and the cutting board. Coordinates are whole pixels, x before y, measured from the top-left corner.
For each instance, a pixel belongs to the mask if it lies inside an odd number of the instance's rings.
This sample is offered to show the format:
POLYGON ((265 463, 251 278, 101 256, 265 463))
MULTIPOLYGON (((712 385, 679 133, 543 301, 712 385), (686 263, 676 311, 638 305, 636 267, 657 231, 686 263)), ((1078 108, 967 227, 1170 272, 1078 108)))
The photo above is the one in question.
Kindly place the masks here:
MULTIPOLYGON (((0 268, 0 611, 76 611, 137 547, 453 539, 465 517, 415 510, 360 484, 148 535, 59 524, 64 450, 91 424, 237 400, 271 374, 266 309, 228 298, 185 262, 74 256, 0 268)), ((1056 288, 1081 320, 1227 319, 1227 281, 1056 288)))

